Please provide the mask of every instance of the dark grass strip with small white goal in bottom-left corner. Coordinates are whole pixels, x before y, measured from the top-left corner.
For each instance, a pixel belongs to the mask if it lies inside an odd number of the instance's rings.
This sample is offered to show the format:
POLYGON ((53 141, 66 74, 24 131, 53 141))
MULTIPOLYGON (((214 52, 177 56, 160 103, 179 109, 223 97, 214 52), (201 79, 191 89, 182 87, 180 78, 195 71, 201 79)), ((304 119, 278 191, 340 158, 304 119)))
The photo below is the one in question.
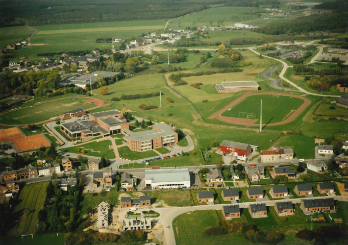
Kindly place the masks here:
POLYGON ((7 236, 0 238, 0 244, 11 244, 11 245, 37 245, 37 244, 50 244, 50 245, 62 245, 65 242, 64 239, 65 233, 56 233, 54 234, 45 234, 45 235, 34 235, 24 236, 23 239, 21 236, 7 236))

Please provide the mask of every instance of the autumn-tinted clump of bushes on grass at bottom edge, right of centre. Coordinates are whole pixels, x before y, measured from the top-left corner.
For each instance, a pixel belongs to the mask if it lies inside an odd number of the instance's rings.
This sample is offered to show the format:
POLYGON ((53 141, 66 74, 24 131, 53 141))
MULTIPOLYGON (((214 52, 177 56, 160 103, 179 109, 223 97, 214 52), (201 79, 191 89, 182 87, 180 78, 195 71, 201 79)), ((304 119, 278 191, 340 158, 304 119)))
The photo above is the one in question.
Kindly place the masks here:
POLYGON ((207 227, 206 235, 223 235, 227 233, 242 233, 245 238, 251 242, 261 242, 267 244, 276 244, 284 239, 284 235, 275 230, 259 231, 250 223, 228 222, 222 218, 217 222, 217 227, 207 227))

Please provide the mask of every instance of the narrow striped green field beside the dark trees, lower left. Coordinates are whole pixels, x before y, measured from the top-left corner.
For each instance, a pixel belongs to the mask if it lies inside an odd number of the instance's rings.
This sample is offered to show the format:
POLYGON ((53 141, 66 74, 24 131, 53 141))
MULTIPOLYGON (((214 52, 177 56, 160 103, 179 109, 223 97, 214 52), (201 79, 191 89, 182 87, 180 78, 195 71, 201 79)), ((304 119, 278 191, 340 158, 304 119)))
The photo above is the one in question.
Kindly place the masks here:
POLYGON ((46 186, 48 182, 40 182, 25 185, 20 191, 19 200, 15 212, 21 214, 15 228, 10 232, 11 235, 36 234, 36 225, 38 222, 37 214, 46 198, 46 186))

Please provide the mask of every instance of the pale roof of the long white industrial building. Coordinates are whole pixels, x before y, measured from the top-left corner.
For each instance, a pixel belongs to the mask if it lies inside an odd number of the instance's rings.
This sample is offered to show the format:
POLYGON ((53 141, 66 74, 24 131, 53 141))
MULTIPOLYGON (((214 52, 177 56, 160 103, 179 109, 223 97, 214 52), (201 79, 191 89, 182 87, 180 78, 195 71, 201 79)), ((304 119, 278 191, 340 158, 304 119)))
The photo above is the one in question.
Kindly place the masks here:
POLYGON ((188 168, 146 169, 145 179, 158 182, 190 181, 188 168))

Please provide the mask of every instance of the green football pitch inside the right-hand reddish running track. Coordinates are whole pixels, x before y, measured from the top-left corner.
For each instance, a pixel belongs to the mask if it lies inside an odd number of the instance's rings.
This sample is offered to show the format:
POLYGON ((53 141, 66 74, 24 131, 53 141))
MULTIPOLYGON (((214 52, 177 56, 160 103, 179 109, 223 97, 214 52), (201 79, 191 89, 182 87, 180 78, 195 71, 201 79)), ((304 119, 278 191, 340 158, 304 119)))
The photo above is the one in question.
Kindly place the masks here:
MULTIPOLYGON (((254 113, 260 122, 260 105, 262 100, 262 123, 274 123, 285 120, 293 110, 299 108, 304 101, 295 97, 279 95, 252 95, 246 97, 234 107, 222 113, 222 116, 246 118, 247 113, 254 113), (275 97, 278 96, 278 97, 275 97), (242 116, 244 112, 244 116, 242 116)), ((253 119, 250 117, 249 119, 253 119)))

